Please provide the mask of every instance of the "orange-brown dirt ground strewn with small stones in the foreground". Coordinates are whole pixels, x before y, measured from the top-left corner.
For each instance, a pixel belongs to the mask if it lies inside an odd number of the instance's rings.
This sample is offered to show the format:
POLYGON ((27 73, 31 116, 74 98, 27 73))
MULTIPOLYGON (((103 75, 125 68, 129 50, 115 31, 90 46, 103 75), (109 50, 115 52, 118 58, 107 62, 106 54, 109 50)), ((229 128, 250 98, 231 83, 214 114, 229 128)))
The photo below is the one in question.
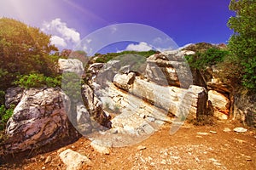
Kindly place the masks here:
MULTIPOLYGON (((216 122, 213 126, 185 123, 170 135, 170 125, 165 124, 142 143, 112 148, 109 155, 93 150, 90 140, 85 138, 65 148, 90 158, 92 166, 84 165, 83 169, 253 170, 256 169, 256 133, 249 128, 246 133, 233 131, 241 126, 229 121, 216 122), (224 132, 224 127, 229 127, 231 132, 224 132)), ((21 163, 1 165, 0 169, 66 169, 66 166, 54 150, 21 163), (45 163, 47 157, 51 159, 45 163)))

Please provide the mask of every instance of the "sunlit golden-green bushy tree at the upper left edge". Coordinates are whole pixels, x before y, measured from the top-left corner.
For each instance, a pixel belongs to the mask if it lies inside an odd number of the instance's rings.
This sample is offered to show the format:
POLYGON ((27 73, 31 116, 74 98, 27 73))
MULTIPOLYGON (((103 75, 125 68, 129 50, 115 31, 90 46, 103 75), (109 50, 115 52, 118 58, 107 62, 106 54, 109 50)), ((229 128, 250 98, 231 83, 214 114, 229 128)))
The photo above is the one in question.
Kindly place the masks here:
POLYGON ((9 88, 20 75, 55 74, 53 51, 57 48, 50 44, 50 36, 38 28, 18 20, 0 19, 0 88, 9 88))

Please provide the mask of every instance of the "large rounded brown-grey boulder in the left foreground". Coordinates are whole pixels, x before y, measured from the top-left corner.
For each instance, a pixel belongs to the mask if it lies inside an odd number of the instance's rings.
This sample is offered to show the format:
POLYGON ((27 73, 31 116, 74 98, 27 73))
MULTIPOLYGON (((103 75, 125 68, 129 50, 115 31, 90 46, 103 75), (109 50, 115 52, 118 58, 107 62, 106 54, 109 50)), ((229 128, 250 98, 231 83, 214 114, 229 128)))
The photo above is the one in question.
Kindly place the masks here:
POLYGON ((64 105, 68 108, 70 101, 58 88, 25 90, 7 123, 7 150, 31 150, 67 137, 69 126, 64 105))

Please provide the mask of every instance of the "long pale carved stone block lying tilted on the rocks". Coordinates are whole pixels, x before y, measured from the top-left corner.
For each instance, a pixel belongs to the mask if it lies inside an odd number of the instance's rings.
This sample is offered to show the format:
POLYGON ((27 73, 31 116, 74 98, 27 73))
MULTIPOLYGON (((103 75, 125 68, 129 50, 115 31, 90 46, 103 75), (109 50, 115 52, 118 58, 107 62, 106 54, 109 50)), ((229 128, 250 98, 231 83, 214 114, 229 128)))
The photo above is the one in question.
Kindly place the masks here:
POLYGON ((207 107, 207 91, 205 88, 193 85, 189 89, 163 87, 138 77, 129 85, 127 83, 129 79, 129 76, 125 74, 116 75, 114 84, 153 105, 169 111, 175 116, 187 116, 189 114, 195 118, 198 115, 205 114, 207 107))

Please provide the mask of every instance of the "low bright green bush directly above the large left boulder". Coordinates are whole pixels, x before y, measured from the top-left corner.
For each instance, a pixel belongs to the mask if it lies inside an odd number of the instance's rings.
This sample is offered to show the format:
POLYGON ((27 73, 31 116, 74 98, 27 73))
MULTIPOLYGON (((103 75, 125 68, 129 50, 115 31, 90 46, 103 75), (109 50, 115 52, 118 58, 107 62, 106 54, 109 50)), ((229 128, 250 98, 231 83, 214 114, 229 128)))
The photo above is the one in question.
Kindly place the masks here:
POLYGON ((18 77, 14 84, 22 88, 61 87, 61 77, 45 77, 43 74, 32 73, 18 77))

